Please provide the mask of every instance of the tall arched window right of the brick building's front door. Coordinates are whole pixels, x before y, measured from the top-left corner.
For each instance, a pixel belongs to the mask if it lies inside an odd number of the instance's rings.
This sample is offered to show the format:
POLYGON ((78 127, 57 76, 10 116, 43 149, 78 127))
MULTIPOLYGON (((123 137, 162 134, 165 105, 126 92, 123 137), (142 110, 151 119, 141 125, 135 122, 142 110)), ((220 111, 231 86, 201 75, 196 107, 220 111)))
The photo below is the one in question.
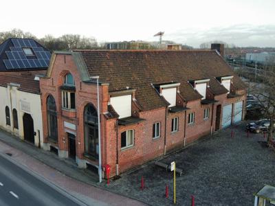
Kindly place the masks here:
POLYGON ((84 110, 85 153, 98 159, 98 113, 93 104, 84 110))

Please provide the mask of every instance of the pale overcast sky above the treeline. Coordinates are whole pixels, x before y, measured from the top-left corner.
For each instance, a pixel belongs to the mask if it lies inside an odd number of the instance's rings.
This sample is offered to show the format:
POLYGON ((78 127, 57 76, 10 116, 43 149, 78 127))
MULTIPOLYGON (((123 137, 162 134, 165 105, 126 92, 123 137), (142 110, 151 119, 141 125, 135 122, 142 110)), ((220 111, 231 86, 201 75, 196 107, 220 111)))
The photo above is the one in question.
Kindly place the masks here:
POLYGON ((208 41, 275 47, 275 0, 1 1, 0 31, 81 34, 98 41, 208 41))

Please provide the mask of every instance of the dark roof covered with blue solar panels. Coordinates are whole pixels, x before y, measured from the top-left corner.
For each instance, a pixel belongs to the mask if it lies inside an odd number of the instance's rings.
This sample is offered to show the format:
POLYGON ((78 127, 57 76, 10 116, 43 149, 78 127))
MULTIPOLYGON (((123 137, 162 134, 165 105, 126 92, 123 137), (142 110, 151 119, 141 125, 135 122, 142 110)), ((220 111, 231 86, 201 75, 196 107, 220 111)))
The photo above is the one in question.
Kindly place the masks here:
POLYGON ((51 53, 31 38, 8 38, 0 45, 0 71, 47 69, 51 53), (30 49, 30 55, 23 49, 30 49))

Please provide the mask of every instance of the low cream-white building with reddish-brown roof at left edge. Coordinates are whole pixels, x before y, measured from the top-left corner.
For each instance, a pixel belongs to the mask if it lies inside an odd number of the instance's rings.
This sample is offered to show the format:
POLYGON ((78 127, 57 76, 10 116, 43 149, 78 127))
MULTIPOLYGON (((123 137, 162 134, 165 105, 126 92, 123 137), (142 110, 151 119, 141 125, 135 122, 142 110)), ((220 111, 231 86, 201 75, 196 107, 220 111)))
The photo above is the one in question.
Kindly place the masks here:
POLYGON ((43 148, 39 80, 0 75, 0 127, 43 148))

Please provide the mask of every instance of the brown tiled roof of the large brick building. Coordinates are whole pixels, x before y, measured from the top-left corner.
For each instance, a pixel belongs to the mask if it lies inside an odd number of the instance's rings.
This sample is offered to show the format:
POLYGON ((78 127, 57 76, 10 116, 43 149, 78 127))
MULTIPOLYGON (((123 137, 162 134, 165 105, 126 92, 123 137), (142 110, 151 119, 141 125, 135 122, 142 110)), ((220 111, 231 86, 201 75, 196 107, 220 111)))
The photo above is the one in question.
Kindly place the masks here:
MULTIPOLYGON (((126 87, 136 89, 135 98, 142 110, 166 106, 155 84, 179 82, 179 91, 186 101, 201 95, 188 80, 209 78, 214 95, 228 90, 216 79, 234 76, 236 90, 245 84, 215 50, 78 50, 85 62, 86 76, 100 76, 100 82, 109 83, 109 91, 126 87)), ((75 52, 74 52, 75 53, 75 52)), ((79 59, 78 59, 79 60, 79 59)))

